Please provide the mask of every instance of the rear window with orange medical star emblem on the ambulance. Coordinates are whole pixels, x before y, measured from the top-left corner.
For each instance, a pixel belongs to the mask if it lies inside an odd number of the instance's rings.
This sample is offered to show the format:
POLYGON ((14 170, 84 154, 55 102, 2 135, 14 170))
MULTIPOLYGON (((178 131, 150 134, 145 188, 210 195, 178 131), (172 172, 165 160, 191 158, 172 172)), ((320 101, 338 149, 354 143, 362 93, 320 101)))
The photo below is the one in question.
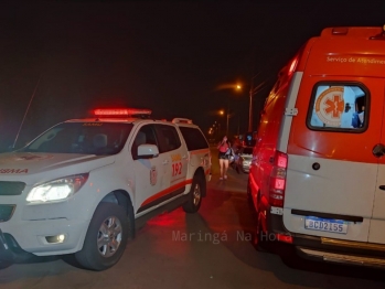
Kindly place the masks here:
POLYGON ((367 127, 368 92, 362 85, 318 83, 308 111, 308 127, 363 131, 367 127))

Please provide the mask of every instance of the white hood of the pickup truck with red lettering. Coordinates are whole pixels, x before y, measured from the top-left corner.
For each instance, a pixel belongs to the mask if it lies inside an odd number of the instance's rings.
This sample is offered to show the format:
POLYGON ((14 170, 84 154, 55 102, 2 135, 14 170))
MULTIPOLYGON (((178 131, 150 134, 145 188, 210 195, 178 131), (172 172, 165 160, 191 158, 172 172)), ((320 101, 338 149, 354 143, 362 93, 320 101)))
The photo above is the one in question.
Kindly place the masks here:
POLYGON ((0 153, 0 181, 26 184, 61 176, 87 173, 115 162, 115 156, 78 153, 9 152, 0 153))

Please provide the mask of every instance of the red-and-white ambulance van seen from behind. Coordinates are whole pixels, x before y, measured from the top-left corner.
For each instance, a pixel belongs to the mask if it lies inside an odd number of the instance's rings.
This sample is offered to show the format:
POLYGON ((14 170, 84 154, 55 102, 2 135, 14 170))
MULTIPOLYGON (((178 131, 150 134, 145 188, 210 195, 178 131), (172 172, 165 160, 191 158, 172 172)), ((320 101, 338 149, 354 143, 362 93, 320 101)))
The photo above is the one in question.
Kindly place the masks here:
POLYGON ((247 183, 258 247, 385 266, 385 26, 336 26, 279 72, 247 183))

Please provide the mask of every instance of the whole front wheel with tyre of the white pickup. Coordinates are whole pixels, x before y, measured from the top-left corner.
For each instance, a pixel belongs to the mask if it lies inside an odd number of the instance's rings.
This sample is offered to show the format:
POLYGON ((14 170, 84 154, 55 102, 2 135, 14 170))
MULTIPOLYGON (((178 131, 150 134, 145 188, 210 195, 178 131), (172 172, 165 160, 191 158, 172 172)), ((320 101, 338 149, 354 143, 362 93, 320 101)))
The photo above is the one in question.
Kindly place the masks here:
POLYGON ((100 203, 89 223, 83 249, 75 253, 76 260, 95 271, 113 267, 125 251, 130 225, 124 207, 100 203))

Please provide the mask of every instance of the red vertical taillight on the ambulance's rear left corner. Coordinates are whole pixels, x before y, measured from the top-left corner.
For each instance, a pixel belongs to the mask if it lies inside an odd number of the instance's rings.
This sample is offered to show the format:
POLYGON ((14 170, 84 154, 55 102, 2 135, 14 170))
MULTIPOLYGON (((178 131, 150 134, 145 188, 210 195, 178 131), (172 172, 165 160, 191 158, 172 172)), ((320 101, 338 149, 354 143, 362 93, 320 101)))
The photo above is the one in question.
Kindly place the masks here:
POLYGON ((271 206, 284 207, 287 167, 288 156, 276 151, 269 180, 269 203, 271 206))

